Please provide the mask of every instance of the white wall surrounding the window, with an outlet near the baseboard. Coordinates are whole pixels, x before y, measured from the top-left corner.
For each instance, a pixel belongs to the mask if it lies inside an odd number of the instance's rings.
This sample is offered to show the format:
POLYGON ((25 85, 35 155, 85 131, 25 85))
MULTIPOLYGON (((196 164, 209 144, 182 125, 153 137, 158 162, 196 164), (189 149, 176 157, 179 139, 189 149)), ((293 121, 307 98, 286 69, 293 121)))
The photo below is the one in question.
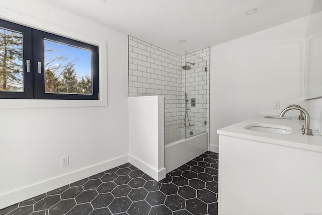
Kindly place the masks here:
POLYGON ((100 53, 105 56, 100 64, 104 98, 79 102, 100 107, 64 107, 77 101, 57 101, 61 107, 53 101, 0 101, 0 208, 126 163, 127 35, 36 0, 2 1, 0 18, 107 44, 107 53, 104 44, 100 53), (60 158, 67 155, 69 166, 62 168, 60 158))

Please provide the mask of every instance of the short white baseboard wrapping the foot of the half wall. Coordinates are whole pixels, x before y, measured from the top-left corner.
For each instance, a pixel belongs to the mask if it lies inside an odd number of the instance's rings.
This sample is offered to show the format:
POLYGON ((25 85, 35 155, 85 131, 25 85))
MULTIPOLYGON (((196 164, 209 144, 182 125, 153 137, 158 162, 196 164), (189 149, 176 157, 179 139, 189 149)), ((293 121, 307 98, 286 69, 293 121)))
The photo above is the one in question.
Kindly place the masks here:
POLYGON ((160 170, 155 170, 150 165, 146 164, 145 162, 141 161, 134 156, 129 155, 129 162, 134 165, 135 167, 142 170, 144 173, 152 177, 154 180, 159 181, 166 177, 166 168, 162 168, 160 170))

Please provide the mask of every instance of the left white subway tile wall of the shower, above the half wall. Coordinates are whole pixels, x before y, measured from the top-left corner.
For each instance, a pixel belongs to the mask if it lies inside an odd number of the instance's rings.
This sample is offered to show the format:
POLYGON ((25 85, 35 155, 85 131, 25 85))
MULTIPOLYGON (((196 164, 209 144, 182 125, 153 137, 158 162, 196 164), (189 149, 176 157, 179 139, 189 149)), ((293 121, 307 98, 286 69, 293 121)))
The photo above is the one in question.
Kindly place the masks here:
POLYGON ((181 56, 129 36, 129 96, 165 96, 165 130, 182 125, 181 56))

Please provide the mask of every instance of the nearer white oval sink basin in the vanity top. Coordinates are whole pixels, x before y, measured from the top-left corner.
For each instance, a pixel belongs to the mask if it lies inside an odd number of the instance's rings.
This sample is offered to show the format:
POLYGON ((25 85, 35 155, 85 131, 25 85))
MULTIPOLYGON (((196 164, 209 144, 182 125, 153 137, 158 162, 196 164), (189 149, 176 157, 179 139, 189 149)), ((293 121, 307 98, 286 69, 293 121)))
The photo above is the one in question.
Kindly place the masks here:
POLYGON ((254 130, 266 133, 277 133, 277 134, 290 134, 292 128, 282 125, 269 125, 269 124, 249 124, 244 127, 247 130, 254 130))

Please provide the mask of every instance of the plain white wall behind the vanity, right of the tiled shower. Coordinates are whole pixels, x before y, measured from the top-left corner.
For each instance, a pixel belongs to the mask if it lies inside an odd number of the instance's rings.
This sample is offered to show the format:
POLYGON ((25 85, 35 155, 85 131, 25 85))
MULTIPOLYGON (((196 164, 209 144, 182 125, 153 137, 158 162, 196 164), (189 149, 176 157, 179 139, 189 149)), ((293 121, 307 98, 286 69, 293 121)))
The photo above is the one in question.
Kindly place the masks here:
POLYGON ((306 108, 307 22, 295 20, 211 47, 210 150, 218 150, 219 128, 258 114, 279 114, 290 104, 306 108), (273 109, 273 101, 280 101, 280 109, 273 109))

